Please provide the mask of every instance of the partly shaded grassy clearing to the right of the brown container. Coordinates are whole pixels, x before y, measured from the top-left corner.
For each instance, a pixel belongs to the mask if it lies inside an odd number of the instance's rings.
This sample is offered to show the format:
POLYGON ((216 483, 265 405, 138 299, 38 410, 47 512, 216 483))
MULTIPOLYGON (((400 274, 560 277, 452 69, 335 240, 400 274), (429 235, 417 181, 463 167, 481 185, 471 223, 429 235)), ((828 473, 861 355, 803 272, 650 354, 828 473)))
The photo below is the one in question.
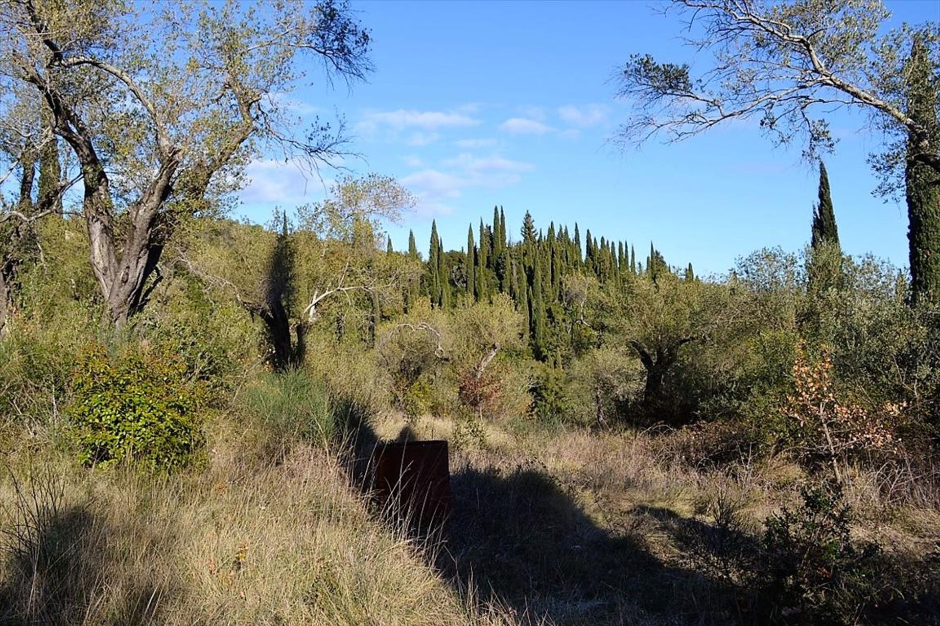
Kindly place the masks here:
MULTIPOLYGON (((404 426, 387 417, 374 428, 392 438, 404 426)), ((455 428, 430 418, 408 426, 420 437, 455 428)), ((453 454, 455 511, 434 565, 524 620, 765 623, 748 566, 763 520, 798 504, 807 475, 782 458, 696 468, 682 458, 681 436, 521 435, 487 425, 484 445, 453 454)), ((904 614, 928 623, 940 608, 931 597, 940 590, 931 560, 940 557, 940 492, 924 477, 914 492, 891 484, 876 472, 850 472, 854 540, 887 546, 879 562, 893 586, 882 589, 892 599, 883 615, 868 619, 904 623, 904 614)), ((794 614, 790 622, 807 619, 794 614)))

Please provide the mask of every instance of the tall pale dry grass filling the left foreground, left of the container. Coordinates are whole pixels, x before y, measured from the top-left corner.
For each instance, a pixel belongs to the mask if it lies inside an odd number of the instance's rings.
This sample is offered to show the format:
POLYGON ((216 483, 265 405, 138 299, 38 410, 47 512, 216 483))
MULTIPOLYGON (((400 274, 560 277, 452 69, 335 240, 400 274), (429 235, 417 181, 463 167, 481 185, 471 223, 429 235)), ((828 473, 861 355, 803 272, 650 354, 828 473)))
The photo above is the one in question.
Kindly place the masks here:
POLYGON ((170 479, 61 458, 2 477, 0 622, 507 623, 371 517, 324 450, 246 466, 234 438, 216 436, 208 467, 170 479))

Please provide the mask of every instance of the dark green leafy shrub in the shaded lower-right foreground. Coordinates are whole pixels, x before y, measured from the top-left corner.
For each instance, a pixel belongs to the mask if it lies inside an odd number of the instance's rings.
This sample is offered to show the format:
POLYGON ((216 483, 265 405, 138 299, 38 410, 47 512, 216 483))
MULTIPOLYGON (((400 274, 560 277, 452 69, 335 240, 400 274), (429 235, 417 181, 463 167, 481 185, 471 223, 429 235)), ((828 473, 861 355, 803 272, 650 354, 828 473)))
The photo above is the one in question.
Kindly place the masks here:
POLYGON ((854 623, 878 596, 876 544, 856 547, 838 483, 804 487, 799 508, 764 521, 762 590, 772 617, 854 623))

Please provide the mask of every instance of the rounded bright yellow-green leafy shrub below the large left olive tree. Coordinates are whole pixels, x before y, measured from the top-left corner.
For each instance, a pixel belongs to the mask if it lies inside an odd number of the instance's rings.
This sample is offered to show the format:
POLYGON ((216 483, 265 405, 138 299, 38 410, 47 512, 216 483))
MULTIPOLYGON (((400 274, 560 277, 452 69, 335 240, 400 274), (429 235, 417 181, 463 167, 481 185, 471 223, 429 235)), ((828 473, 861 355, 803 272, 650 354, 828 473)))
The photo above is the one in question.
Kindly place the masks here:
POLYGON ((81 355, 68 408, 86 465, 132 461, 150 469, 189 465, 201 448, 204 384, 179 356, 140 349, 111 356, 102 344, 81 355))

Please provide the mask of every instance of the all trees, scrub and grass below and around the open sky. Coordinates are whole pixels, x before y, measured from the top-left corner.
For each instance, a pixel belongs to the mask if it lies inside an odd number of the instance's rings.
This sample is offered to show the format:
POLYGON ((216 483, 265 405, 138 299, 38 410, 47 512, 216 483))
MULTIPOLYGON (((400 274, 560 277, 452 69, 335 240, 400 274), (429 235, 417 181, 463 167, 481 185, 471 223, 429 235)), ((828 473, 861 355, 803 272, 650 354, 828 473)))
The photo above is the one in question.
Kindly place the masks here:
MULTIPOLYGON (((894 124, 910 268, 843 253, 822 163, 807 248, 713 276, 500 206, 396 251, 414 198, 379 175, 236 221, 245 163, 337 156, 279 106, 304 54, 369 69, 346 5, 0 3, 0 622, 940 620, 935 33, 859 87, 872 3, 680 4, 779 81, 808 55, 765 130, 824 144, 823 87, 894 124), (371 493, 376 444, 411 438, 449 442, 436 527, 371 493)), ((738 110, 649 56, 622 80, 702 103, 681 138, 767 101, 748 71, 715 74, 738 110)))

